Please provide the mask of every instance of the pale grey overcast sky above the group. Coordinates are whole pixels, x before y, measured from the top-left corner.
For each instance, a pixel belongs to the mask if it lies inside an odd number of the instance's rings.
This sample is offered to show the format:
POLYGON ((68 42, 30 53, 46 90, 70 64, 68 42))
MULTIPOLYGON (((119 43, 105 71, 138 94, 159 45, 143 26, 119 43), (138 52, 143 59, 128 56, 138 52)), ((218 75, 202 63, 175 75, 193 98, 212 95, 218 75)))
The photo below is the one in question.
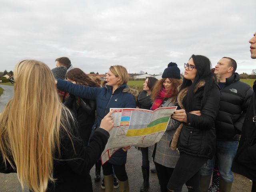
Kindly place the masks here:
POLYGON ((256 32, 256 0, 0 0, 0 71, 24 59, 55 67, 67 56, 84 72, 123 65, 159 74, 192 54, 215 66, 228 56, 250 74, 248 40, 256 32))

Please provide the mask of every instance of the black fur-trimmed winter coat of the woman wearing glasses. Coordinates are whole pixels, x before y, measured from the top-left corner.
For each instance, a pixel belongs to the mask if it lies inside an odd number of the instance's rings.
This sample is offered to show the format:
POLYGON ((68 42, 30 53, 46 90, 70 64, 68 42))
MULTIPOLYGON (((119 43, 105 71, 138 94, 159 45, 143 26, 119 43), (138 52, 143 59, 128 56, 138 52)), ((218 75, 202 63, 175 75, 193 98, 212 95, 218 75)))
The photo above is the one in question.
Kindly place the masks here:
MULTIPOLYGON (((201 116, 186 112, 188 123, 183 123, 180 132, 178 150, 193 156, 201 156, 211 159, 216 149, 215 118, 220 103, 220 88, 217 84, 212 85, 208 92, 207 101, 202 106, 204 94, 204 81, 198 83, 194 89, 191 110, 200 110, 201 116)), ((185 89, 178 94, 178 104, 184 109, 186 106, 185 89)))

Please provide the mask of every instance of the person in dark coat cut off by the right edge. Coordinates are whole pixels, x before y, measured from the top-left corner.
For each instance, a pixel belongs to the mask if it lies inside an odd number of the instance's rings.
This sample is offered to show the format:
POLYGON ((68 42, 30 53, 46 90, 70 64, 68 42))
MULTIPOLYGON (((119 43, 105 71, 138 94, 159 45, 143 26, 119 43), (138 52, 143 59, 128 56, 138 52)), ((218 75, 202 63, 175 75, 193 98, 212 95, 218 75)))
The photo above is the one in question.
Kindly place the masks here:
MULTIPOLYGON (((256 59, 256 33, 249 43, 251 58, 256 59)), ((232 171, 252 180, 252 192, 256 192, 256 81, 253 84, 253 91, 232 171)))

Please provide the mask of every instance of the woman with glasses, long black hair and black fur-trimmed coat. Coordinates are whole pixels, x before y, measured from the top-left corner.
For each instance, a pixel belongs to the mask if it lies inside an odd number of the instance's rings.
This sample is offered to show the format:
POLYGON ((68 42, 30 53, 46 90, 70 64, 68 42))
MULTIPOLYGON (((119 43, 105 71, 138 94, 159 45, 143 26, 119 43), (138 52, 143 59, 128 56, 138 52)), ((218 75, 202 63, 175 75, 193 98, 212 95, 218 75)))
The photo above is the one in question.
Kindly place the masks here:
POLYGON ((215 152, 214 124, 220 89, 211 71, 210 60, 205 56, 192 55, 184 68, 184 80, 177 96, 181 109, 172 115, 173 119, 182 122, 178 128, 180 158, 167 188, 171 192, 181 192, 186 183, 189 192, 199 192, 200 168, 215 152))

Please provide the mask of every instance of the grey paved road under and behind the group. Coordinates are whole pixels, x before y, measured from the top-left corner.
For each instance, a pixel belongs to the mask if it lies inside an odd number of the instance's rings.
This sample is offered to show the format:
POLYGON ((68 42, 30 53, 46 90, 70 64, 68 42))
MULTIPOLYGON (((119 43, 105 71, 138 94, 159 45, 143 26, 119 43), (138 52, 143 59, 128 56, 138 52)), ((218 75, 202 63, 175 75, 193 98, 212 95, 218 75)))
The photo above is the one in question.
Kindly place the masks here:
MULTIPOLYGON (((4 88, 4 93, 0 96, 0 112, 4 109, 10 98, 13 96, 13 86, 0 85, 4 88)), ((128 151, 126 170, 130 183, 130 192, 139 192, 140 186, 142 184, 142 155, 141 152, 132 147, 128 151)), ((153 167, 153 164, 150 164, 153 167)), ((104 192, 105 190, 100 188, 100 182, 94 182, 95 167, 92 168, 90 172, 92 176, 92 185, 94 192, 104 192)), ((102 173, 101 173, 102 175, 102 173)), ((17 174, 2 174, 0 173, 0 192, 21 192, 21 186, 17 178, 17 174)), ((114 192, 118 192, 119 189, 115 189, 114 192)), ((158 192, 160 187, 158 186, 158 178, 156 174, 150 174, 150 189, 148 192, 158 192)), ((25 188, 24 192, 29 192, 25 188)), ((86 192, 86 189, 84 190, 86 192)), ((183 187, 182 192, 187 192, 187 189, 183 187)))

